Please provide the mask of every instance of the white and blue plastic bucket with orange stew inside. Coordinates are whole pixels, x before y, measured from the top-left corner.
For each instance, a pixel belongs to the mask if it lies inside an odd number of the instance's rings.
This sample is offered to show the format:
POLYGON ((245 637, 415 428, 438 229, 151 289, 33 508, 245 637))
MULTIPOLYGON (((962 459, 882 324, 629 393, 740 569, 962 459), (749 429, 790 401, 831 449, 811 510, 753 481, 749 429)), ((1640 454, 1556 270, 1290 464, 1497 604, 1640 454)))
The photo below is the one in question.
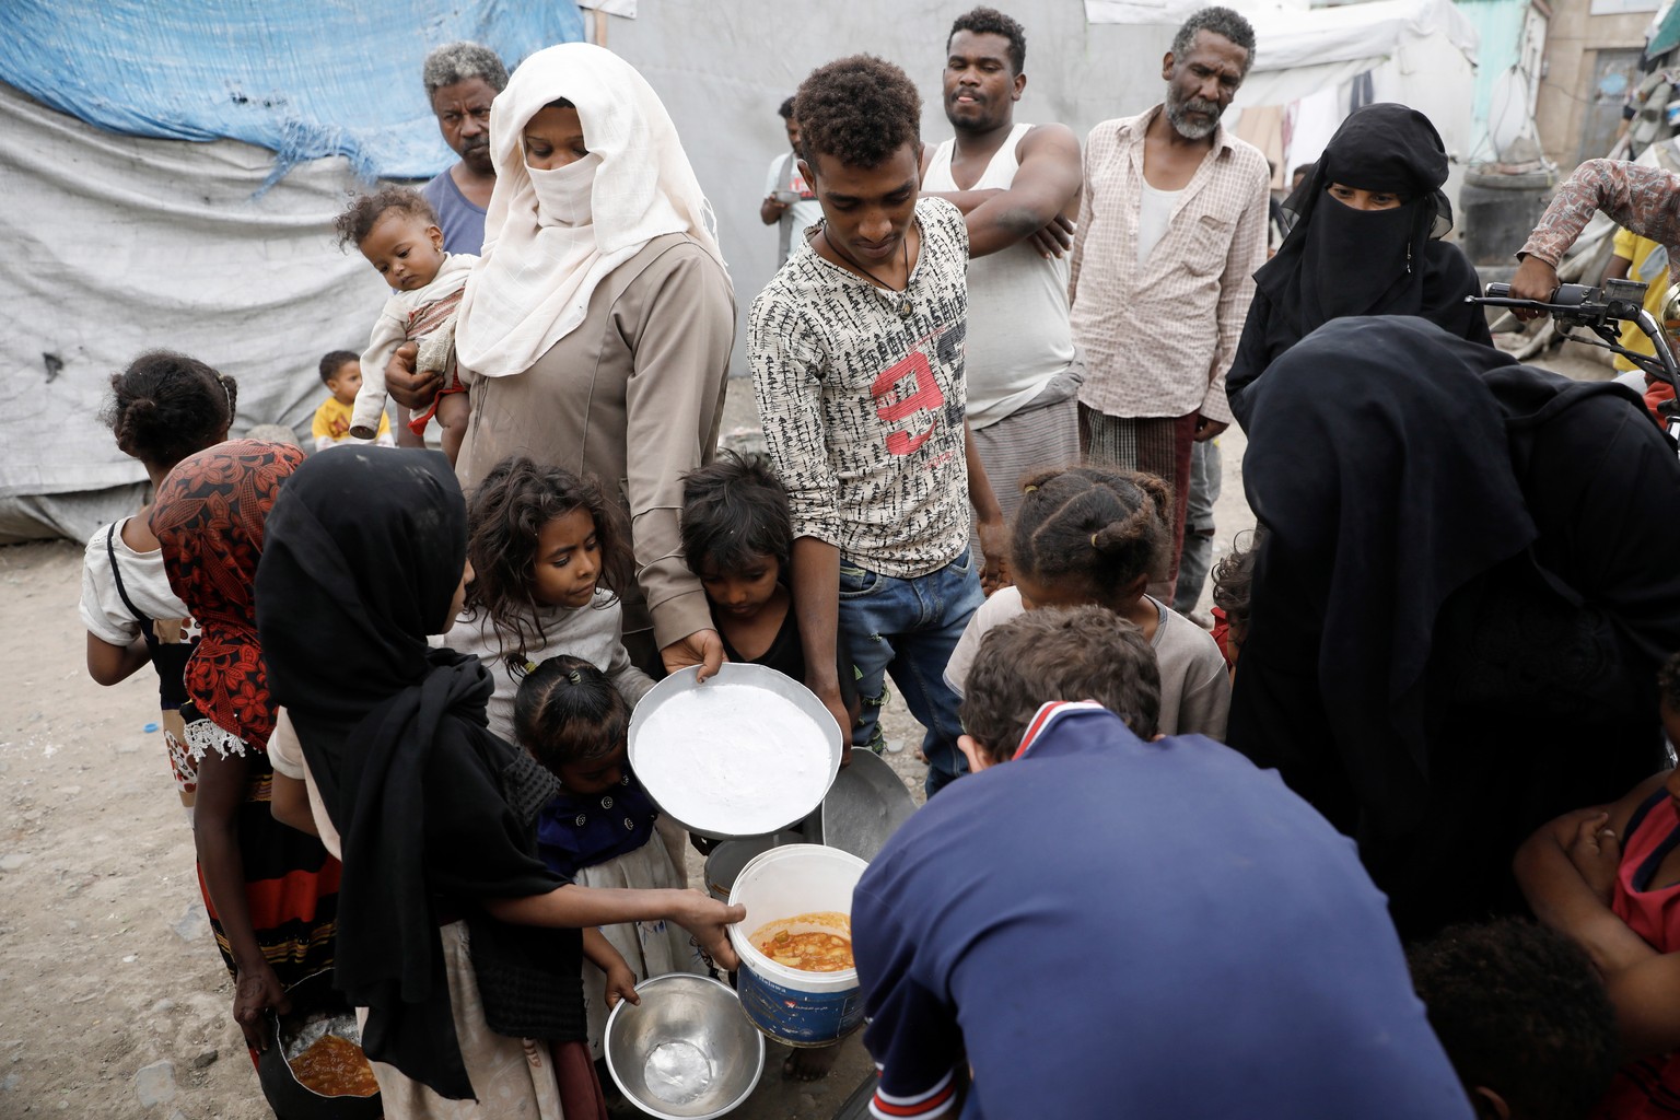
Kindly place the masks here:
MULTIPOLYGON (((746 922, 729 927, 729 944, 741 957, 736 994, 741 1009, 766 1038, 788 1046, 827 1046, 864 1021, 857 969, 803 972, 776 964, 751 944, 751 935, 803 913, 852 915, 852 888, 869 865, 822 845, 786 845, 754 856, 741 868, 731 905, 746 907, 746 922)), ((820 924, 786 925, 790 934, 823 930, 820 924)))

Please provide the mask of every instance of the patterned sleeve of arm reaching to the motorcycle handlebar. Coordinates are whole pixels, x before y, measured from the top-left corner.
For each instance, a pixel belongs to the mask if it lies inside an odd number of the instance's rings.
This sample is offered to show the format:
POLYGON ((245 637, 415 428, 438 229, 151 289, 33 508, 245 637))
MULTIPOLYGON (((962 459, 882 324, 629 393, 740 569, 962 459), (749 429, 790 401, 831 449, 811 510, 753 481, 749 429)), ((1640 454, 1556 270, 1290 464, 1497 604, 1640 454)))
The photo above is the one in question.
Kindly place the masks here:
POLYGON ((1576 168, 1517 255, 1534 255, 1557 267, 1594 210, 1625 230, 1665 245, 1668 277, 1680 282, 1680 175, 1618 160, 1588 160, 1576 168))

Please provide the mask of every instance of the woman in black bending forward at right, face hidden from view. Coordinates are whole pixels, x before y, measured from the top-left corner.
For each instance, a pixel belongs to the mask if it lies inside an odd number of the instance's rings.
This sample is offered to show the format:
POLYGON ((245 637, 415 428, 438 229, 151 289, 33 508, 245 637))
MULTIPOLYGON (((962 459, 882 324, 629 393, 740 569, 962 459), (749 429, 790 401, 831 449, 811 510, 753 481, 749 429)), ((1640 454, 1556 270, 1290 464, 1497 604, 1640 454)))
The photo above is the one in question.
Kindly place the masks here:
POLYGON ((1680 462, 1640 398, 1415 317, 1326 324, 1253 388, 1267 529, 1230 744, 1359 841, 1421 935, 1660 766, 1680 462))

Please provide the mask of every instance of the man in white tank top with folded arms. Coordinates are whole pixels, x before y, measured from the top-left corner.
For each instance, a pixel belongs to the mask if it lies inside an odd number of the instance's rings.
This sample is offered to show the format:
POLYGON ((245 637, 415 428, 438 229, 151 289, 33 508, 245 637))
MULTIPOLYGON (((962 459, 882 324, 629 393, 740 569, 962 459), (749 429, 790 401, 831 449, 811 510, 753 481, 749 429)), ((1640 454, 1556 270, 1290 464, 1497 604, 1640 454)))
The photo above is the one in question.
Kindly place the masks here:
POLYGON ((1079 215, 1079 138, 1063 124, 1015 123, 1025 59, 1026 37, 1008 15, 958 17, 944 69, 956 139, 922 153, 922 193, 956 203, 968 223, 968 420, 1006 519, 1023 475, 1079 458, 1084 376, 1065 257, 1079 215))

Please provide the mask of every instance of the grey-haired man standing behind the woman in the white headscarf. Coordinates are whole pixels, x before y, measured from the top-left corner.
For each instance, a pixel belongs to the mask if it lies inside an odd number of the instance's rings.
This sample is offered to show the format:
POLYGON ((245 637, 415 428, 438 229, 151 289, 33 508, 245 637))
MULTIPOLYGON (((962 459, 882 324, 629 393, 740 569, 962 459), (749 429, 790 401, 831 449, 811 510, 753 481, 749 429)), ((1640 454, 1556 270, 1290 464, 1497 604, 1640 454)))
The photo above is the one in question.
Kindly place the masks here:
POLYGON ((484 212, 496 186, 491 161, 491 102, 507 87, 507 67, 475 42, 452 42, 425 57, 420 72, 437 128, 460 161, 420 188, 437 212, 444 252, 484 247, 484 212))

